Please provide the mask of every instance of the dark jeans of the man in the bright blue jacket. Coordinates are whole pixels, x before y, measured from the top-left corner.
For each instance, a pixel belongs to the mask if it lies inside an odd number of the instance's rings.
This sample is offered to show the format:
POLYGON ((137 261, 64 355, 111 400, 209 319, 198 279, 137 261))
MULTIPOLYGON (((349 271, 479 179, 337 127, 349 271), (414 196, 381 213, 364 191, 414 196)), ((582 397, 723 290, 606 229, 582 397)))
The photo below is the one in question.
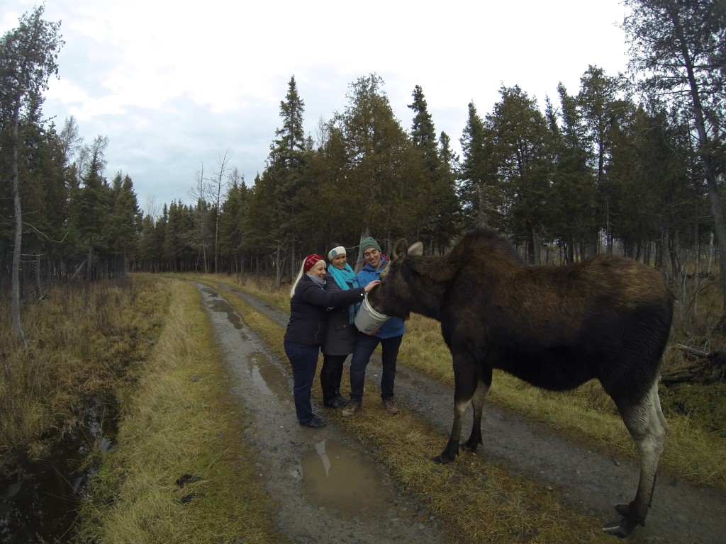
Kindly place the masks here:
POLYGON ((359 332, 356 336, 356 347, 351 358, 351 400, 363 400, 363 384, 365 382, 365 368, 368 366, 370 356, 380 344, 381 362, 383 372, 380 376, 380 397, 384 400, 393 398, 393 384, 396 382, 396 358, 401 347, 399 337, 380 339, 359 332))

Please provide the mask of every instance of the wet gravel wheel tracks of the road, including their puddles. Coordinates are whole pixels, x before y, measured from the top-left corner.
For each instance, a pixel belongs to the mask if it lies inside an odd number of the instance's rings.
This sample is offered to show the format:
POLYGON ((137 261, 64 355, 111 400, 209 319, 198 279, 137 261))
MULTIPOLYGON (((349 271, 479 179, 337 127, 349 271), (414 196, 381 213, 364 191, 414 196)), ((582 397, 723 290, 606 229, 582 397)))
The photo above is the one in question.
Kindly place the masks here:
MULTIPOLYGON (((196 286, 227 360, 230 388, 245 408, 245 437, 257 445, 260 478, 280 502, 277 525, 283 534, 300 543, 452 541, 441 531, 436 516, 396 489, 386 469, 333 422, 323 429, 298 426, 287 360, 270 355, 219 292, 196 286)), ((287 313, 280 309, 226 286, 218 289, 241 297, 281 326, 287 324, 287 313)), ((380 376, 375 355, 369 376, 380 376)), ((347 371, 343 394, 347 394, 346 379, 347 371)), ((399 364, 396 400, 441 432, 451 430, 453 391, 449 387, 399 364)), ((315 397, 313 408, 325 417, 325 408, 315 397)), ((470 425, 468 414, 462 428, 470 425)), ((603 524, 617 519, 615 503, 627 503, 635 495, 638 468, 632 461, 603 456, 489 404, 483 426, 485 444, 477 455, 546 482, 573 508, 599 517, 603 524)), ((726 494, 682 482, 661 469, 646 525, 636 529, 629 542, 726 542, 726 494)))

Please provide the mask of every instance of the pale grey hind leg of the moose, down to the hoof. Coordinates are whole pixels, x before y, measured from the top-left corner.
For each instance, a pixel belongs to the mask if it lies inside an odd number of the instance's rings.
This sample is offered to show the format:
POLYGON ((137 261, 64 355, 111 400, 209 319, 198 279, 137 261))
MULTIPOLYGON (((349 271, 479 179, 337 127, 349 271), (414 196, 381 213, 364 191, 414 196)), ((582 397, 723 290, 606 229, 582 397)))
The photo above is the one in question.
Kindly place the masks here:
POLYGON ((640 403, 632 405, 616 400, 616 404, 637 447, 640 457, 640 481, 635 500, 629 504, 615 506, 616 511, 623 516, 619 524, 608 525, 603 527, 603 530, 617 537, 627 537, 639 524, 645 525, 645 516, 648 515, 650 501, 653 499, 653 487, 656 485, 658 461, 668 435, 668 424, 661 411, 657 382, 653 382, 640 403))

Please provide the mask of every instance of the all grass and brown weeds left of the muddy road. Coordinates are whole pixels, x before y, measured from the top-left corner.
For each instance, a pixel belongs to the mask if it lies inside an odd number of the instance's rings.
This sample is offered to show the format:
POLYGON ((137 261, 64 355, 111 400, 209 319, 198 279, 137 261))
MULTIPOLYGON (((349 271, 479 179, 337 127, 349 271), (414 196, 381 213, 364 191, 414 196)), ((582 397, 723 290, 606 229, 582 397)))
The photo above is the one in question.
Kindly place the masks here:
POLYGON ((99 471, 78 542, 286 542, 273 501, 240 462, 253 455, 244 414, 191 284, 150 275, 66 284, 28 307, 24 326, 27 348, 0 321, 1 468, 10 477, 63 440, 86 440, 78 471, 99 471), (94 401, 110 452, 88 429, 94 401))

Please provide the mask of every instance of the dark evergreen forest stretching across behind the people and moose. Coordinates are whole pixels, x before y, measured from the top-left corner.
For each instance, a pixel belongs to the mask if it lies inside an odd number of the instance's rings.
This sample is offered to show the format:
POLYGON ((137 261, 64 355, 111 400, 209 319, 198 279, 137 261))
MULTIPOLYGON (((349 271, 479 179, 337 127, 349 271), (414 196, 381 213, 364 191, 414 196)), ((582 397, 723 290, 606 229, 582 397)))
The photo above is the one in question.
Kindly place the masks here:
POLYGON ((12 301, 16 333, 22 302, 53 282, 199 271, 280 285, 302 255, 333 242, 354 251, 372 235, 385 252, 403 237, 442 253, 480 225, 533 264, 616 252, 661 268, 680 295, 680 325, 715 290, 709 326, 722 326, 726 4, 624 4, 629 73, 591 65, 579 88, 560 85, 544 104, 502 87, 488 111, 468 104, 460 135, 436 132, 420 86, 411 118, 397 119, 375 73, 351 82, 343 112, 306 134, 293 76, 254 180, 224 154, 195 174, 195 205, 146 211, 132 172, 105 176, 113 142, 88 144, 74 118, 44 117, 63 42, 60 22, 36 7, 0 41, 0 297, 12 301))

